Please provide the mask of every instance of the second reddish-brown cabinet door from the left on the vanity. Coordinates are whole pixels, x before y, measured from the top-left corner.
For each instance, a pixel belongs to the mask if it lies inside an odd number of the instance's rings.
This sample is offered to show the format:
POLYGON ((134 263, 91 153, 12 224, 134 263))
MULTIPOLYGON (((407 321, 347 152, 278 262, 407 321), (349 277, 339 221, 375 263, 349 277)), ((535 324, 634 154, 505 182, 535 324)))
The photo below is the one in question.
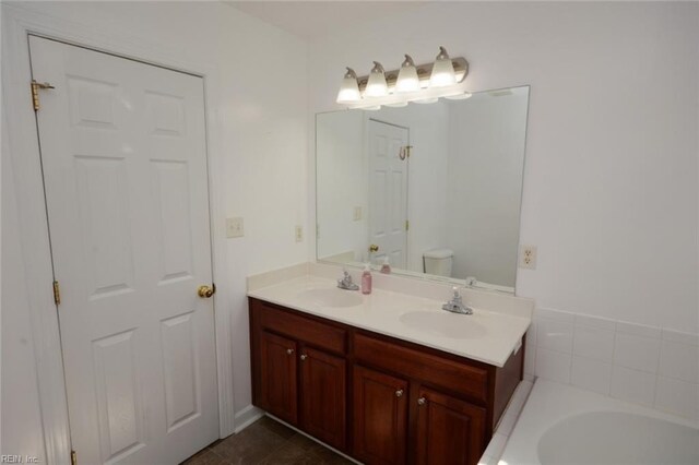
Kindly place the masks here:
POLYGON ((345 360, 300 349, 301 428, 328 444, 345 446, 345 360))

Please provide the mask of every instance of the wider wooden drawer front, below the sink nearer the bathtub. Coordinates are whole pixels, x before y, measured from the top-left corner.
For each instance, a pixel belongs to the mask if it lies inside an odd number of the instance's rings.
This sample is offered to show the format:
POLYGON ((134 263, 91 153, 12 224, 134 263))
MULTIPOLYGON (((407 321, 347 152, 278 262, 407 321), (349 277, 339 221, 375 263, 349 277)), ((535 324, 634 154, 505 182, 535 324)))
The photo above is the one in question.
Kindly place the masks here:
POLYGON ((488 372, 448 358, 387 343, 364 334, 354 335, 354 354, 358 361, 403 373, 410 378, 487 400, 488 372))

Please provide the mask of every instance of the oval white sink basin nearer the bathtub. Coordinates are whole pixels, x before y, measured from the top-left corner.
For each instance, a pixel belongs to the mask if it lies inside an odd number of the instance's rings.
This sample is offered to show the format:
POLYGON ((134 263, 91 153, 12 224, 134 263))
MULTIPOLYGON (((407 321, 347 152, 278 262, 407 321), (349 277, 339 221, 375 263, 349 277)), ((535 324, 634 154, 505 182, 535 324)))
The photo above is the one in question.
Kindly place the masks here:
POLYGON ((486 329, 473 320, 473 315, 435 311, 412 311, 402 314, 401 323, 436 336, 454 339, 478 339, 486 329))

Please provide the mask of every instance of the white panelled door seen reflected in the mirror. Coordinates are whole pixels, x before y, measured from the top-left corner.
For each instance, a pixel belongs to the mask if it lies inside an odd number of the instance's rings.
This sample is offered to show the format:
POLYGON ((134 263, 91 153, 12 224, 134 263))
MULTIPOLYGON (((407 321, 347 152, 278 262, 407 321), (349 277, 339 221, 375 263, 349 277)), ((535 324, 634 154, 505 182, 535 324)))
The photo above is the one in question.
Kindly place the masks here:
POLYGON ((407 255, 407 157, 406 128, 369 120, 369 252, 371 262, 406 269, 407 255))

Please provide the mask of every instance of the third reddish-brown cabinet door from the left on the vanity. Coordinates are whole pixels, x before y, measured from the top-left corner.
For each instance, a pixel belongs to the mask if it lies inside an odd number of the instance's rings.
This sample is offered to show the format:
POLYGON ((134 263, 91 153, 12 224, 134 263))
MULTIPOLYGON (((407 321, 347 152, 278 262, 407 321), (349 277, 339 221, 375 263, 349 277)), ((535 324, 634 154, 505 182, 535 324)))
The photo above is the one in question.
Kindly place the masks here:
POLYGON ((407 440, 407 382, 354 368, 354 454, 367 464, 403 464, 407 440))

